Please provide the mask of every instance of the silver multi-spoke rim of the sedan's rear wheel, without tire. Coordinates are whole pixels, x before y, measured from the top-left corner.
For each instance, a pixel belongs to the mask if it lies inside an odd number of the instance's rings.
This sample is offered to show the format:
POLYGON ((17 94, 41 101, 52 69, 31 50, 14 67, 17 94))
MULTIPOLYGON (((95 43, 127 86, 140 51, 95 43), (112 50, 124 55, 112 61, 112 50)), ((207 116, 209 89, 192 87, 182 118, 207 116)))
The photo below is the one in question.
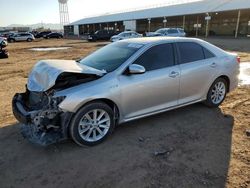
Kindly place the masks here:
POLYGON ((226 94, 226 86, 223 82, 217 82, 211 94, 211 100, 214 104, 219 104, 225 97, 226 94))

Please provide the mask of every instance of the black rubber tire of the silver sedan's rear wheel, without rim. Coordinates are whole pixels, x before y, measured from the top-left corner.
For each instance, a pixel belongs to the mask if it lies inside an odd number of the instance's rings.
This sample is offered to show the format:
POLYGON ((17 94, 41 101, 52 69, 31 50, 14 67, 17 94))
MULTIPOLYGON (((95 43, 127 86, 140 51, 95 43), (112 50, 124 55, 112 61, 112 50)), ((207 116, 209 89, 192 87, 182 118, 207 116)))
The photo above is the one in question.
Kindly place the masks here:
POLYGON ((221 103, 225 100, 226 98, 226 95, 227 95, 227 88, 228 88, 228 83, 225 79, 223 78, 217 78, 213 84, 211 85, 211 87, 209 88, 209 91, 207 93, 207 99, 206 101, 204 101, 204 104, 210 108, 217 108, 218 106, 221 105, 221 103), (224 86, 225 86, 225 93, 224 93, 224 96, 222 97, 221 100, 219 100, 218 103, 215 103, 213 100, 212 100, 212 94, 213 94, 213 89, 215 88, 215 85, 218 84, 218 83, 223 83, 224 86))

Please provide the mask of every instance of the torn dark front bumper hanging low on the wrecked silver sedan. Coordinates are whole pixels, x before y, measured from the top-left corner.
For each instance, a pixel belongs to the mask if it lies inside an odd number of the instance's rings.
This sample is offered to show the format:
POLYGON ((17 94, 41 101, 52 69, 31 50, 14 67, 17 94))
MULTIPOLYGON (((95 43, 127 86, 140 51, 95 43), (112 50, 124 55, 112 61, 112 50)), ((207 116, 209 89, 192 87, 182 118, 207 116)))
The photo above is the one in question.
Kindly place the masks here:
POLYGON ((47 146, 53 143, 60 142, 68 139, 68 125, 70 123, 72 113, 59 114, 57 118, 59 129, 41 130, 32 121, 34 111, 29 111, 24 105, 27 100, 26 93, 18 93, 13 97, 12 110, 16 119, 21 123, 21 133, 24 138, 28 139, 31 143, 41 146, 47 146))

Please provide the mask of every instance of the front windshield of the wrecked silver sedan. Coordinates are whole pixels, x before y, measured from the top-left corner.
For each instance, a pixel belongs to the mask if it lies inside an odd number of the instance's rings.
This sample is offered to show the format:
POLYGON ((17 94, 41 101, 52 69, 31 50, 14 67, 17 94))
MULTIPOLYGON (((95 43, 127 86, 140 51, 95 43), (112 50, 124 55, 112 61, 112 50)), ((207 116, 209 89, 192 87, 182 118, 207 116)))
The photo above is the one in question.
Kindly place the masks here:
POLYGON ((142 46, 142 44, 127 42, 112 43, 83 58, 79 63, 98 70, 112 72, 128 60, 142 46))

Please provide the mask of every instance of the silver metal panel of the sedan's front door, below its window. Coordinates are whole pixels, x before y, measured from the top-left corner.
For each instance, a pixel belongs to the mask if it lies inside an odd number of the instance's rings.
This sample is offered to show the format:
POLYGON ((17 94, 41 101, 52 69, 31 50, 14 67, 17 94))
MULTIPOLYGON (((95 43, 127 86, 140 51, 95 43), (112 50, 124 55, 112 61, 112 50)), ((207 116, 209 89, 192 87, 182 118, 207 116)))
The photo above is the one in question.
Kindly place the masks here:
POLYGON ((125 119, 162 110, 178 104, 179 66, 121 75, 121 103, 125 119))

